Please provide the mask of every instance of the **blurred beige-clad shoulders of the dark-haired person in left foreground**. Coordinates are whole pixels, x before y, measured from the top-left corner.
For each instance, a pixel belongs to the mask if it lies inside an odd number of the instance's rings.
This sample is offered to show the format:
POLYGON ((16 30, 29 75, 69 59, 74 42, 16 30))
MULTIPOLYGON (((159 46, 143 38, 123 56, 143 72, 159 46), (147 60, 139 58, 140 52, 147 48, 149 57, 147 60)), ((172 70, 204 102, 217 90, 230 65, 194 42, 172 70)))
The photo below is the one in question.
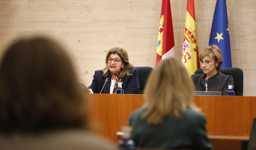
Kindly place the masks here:
POLYGON ((9 136, 0 136, 1 148, 12 150, 15 148, 32 150, 37 146, 38 150, 61 150, 61 149, 90 149, 90 150, 113 150, 111 143, 97 137, 92 132, 84 130, 57 130, 40 134, 13 133, 9 136), (10 144, 13 143, 13 144, 10 144), (45 144, 47 143, 47 144, 45 144), (62 143, 56 145, 56 143, 62 143), (74 144, 76 145, 74 147, 74 144), (40 148, 38 146, 41 146, 40 148))

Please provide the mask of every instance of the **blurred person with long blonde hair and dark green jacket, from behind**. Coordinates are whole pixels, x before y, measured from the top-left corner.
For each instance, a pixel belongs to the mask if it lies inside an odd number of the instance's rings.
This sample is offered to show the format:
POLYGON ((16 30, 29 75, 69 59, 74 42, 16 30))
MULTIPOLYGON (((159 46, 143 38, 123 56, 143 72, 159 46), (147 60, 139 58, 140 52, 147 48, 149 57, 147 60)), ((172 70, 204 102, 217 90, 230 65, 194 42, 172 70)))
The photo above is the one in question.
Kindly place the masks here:
POLYGON ((193 103, 193 89, 180 61, 159 62, 146 83, 144 106, 129 116, 135 146, 211 150, 205 115, 193 103))

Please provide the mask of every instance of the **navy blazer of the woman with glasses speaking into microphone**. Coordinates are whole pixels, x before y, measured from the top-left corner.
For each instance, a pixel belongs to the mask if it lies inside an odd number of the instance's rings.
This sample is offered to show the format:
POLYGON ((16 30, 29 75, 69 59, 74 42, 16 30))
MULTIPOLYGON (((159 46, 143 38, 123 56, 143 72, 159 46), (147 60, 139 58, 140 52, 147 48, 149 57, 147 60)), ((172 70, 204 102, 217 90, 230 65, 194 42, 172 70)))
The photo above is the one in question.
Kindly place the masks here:
MULTIPOLYGON (((130 69, 129 74, 132 74, 132 75, 125 76, 123 79, 122 88, 124 90, 124 94, 138 94, 138 91, 140 88, 140 84, 138 80, 138 70, 130 69)), ((106 85, 104 86, 101 92, 102 94, 110 93, 111 74, 109 74, 109 76, 107 77, 109 78, 109 81, 106 82, 106 85)), ((92 89, 93 93, 100 93, 107 77, 103 76, 102 70, 96 70, 93 75, 92 84, 88 88, 92 89)))

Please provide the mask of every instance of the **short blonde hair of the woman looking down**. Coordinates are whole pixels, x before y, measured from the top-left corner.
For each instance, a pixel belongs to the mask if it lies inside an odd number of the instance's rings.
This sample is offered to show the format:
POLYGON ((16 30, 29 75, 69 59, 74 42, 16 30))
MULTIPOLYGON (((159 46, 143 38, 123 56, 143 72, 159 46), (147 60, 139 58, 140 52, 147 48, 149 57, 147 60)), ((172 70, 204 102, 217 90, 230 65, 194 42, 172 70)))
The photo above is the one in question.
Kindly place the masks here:
POLYGON ((201 61, 204 56, 209 56, 215 63, 219 61, 216 70, 220 70, 223 63, 223 57, 220 48, 217 45, 211 45, 203 49, 199 54, 199 60, 201 61))

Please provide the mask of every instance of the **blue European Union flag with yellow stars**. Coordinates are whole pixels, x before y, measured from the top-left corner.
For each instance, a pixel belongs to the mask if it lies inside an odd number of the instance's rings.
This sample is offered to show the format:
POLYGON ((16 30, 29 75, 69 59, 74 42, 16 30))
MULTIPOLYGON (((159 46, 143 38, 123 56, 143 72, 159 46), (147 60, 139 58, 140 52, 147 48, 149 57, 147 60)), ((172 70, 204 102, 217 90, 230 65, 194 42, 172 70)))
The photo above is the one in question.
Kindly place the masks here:
POLYGON ((232 68, 226 0, 216 2, 209 40, 209 45, 213 44, 219 46, 222 52, 221 68, 232 68))

